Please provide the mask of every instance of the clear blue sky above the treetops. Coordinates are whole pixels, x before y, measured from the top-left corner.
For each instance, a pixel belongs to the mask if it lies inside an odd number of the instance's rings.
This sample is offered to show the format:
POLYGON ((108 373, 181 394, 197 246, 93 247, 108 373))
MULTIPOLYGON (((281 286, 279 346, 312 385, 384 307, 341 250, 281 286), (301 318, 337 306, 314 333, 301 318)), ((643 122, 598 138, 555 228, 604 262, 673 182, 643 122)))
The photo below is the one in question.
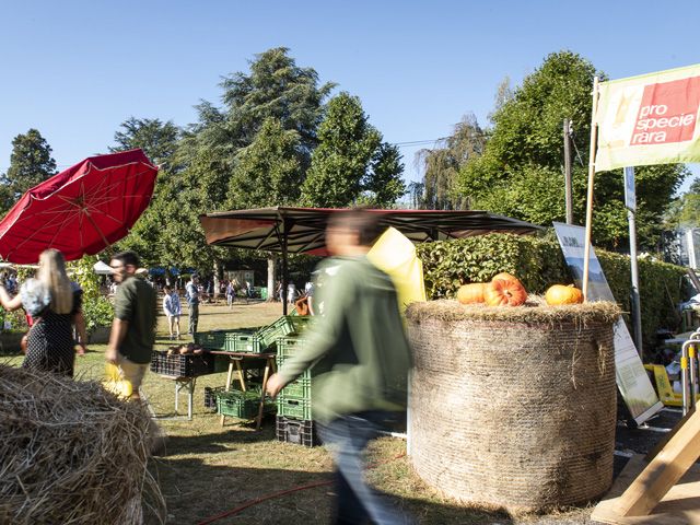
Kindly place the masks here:
MULTIPOLYGON (((105 152, 131 116, 192 122, 222 75, 276 46, 360 96, 395 143, 444 137, 468 112, 485 124, 503 78, 560 49, 611 79, 700 62, 698 0, 42 0, 0 14, 0 171, 30 128, 63 168, 105 152)), ((409 180, 418 148, 401 148, 409 180)))

